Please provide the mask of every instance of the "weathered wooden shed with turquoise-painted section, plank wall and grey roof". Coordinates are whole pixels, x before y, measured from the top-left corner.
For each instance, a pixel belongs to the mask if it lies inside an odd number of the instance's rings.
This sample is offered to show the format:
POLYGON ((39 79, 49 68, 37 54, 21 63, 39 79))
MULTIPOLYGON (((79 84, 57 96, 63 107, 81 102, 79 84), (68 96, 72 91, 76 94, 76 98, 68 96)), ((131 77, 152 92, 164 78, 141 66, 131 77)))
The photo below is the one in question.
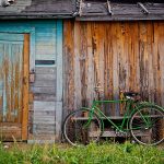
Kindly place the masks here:
POLYGON ((164 106, 163 20, 162 0, 2 3, 0 139, 60 140, 63 118, 92 103, 97 83, 103 98, 132 90, 164 106))

